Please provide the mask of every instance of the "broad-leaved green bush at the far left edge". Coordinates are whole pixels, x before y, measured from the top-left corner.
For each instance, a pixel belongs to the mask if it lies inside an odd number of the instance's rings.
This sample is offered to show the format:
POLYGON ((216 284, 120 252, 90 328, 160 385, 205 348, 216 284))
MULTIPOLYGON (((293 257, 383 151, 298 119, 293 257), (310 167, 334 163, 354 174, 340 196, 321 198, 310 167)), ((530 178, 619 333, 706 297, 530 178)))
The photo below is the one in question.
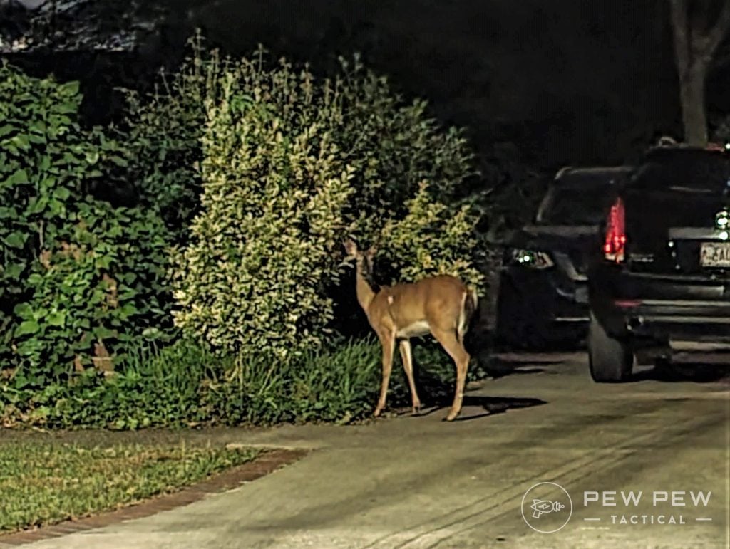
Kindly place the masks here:
POLYGON ((80 99, 76 82, 0 67, 0 360, 17 389, 108 369, 159 324, 164 238, 153 212, 94 198, 126 152, 81 130, 80 99))

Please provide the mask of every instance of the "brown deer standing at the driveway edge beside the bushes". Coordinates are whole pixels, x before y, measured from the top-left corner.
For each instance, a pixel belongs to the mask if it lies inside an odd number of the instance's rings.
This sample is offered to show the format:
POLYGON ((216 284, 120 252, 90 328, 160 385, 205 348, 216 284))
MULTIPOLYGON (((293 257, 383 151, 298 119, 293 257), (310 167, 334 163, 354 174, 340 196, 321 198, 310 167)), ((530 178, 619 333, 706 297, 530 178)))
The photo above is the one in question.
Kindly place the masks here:
POLYGON ((360 252, 353 241, 347 240, 345 251, 348 257, 356 260, 358 303, 383 346, 383 381, 373 415, 380 416, 385 408, 396 340, 410 386, 412 413, 420 411, 420 400, 413 382, 410 338, 430 332, 456 363, 456 392, 451 410, 445 417, 446 421, 452 421, 461 412, 464 398, 470 359, 464 349, 464 334, 477 308, 476 291, 453 276, 439 275, 413 284, 385 286, 376 293, 366 279, 372 274, 372 258, 376 250, 370 248, 360 252))

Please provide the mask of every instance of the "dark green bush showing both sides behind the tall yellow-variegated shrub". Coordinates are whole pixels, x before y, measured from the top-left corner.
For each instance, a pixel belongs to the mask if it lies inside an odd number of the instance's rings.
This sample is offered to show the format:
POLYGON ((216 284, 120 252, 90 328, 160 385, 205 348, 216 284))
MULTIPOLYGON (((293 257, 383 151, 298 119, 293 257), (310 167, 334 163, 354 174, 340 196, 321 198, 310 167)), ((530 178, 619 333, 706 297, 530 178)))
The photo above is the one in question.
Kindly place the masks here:
MULTIPOLYGON (((122 133, 134 149, 142 199, 161 207, 168 226, 180 238, 186 238, 187 224, 199 211, 206 103, 220 100, 230 74, 237 75, 239 91, 253 86, 255 71, 278 70, 282 85, 298 75, 287 63, 272 67, 263 48, 239 63, 208 50, 200 31, 188 44, 191 55, 174 74, 161 75, 155 93, 139 96, 128 90, 129 112, 122 133), (250 74, 240 74, 242 65, 250 74)), ((477 171, 463 131, 444 131, 428 116, 426 101, 409 103, 393 93, 388 79, 367 70, 357 55, 351 63, 341 59, 340 66, 328 79, 315 79, 309 69, 299 76, 310 81, 311 93, 337 96, 331 98, 337 105, 330 107, 328 130, 340 156, 354 168, 356 192, 347 217, 358 219, 362 235, 376 235, 384 215, 403 217, 405 201, 424 180, 430 182, 431 198, 445 201, 454 211, 465 198, 482 198, 467 184, 477 171)), ((294 105, 298 100, 291 101, 294 105)))

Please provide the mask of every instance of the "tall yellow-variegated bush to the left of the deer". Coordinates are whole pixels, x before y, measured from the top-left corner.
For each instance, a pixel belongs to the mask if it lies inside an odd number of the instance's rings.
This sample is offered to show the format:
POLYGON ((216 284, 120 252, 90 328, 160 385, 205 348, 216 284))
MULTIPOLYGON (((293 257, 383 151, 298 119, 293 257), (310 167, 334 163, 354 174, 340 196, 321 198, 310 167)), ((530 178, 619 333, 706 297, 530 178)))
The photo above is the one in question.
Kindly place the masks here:
POLYGON ((320 346, 332 320, 320 287, 352 192, 328 131, 337 94, 315 95, 285 65, 242 61, 226 76, 206 104, 203 211, 177 262, 174 318, 214 346, 281 358, 320 346))

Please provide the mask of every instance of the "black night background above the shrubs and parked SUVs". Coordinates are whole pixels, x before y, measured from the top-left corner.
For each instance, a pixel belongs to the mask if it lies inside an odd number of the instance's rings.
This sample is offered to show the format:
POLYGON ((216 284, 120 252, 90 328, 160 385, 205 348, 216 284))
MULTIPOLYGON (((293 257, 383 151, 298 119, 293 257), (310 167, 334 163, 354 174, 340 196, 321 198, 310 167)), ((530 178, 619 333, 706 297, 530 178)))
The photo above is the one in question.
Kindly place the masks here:
MULTIPOLYGON (((682 135, 669 7, 661 0, 148 4, 165 15, 134 52, 5 56, 37 73, 53 68, 82 79, 91 122, 113 117, 114 85, 145 87, 159 66, 174 67, 200 27, 227 52, 247 54, 262 43, 320 70, 338 54, 361 52, 404 94, 427 98, 439 120, 465 126, 483 159, 506 157, 543 173, 623 163, 658 136, 682 135)), ((114 24, 107 26, 111 32, 114 24)), ((727 68, 715 63, 708 78, 711 125, 730 112, 727 68)))

